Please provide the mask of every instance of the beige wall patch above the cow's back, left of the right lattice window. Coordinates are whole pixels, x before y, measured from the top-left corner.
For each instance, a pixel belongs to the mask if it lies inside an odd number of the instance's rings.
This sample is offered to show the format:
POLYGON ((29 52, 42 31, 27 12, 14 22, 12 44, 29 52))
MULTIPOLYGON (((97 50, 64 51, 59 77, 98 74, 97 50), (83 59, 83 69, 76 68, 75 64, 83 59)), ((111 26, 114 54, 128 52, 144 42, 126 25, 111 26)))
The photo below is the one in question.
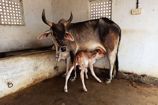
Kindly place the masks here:
POLYGON ((73 22, 88 19, 88 0, 53 0, 53 20, 58 22, 59 19, 70 17, 73 13, 73 22))

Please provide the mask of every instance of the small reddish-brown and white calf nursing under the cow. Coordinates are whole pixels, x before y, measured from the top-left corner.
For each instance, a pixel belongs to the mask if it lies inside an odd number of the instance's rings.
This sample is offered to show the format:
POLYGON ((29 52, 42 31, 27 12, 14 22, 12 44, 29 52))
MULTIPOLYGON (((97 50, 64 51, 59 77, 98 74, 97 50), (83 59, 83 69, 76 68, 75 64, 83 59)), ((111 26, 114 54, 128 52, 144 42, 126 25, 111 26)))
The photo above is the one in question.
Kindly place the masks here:
POLYGON ((101 82, 101 80, 94 73, 93 65, 97 59, 104 57, 104 55, 105 55, 105 50, 101 49, 101 48, 98 48, 94 51, 79 51, 79 52, 77 52, 75 55, 75 58, 74 58, 73 65, 71 66, 70 70, 66 74, 64 91, 68 92, 68 86, 67 86, 68 79, 69 79, 72 71, 75 70, 74 68, 76 66, 79 66, 79 69, 81 70, 80 71, 80 78, 82 81, 83 90, 85 92, 87 92, 87 88, 86 88, 85 82, 84 82, 84 73, 86 75, 86 78, 88 79, 88 75, 87 75, 88 67, 90 68, 92 76, 98 82, 101 82))

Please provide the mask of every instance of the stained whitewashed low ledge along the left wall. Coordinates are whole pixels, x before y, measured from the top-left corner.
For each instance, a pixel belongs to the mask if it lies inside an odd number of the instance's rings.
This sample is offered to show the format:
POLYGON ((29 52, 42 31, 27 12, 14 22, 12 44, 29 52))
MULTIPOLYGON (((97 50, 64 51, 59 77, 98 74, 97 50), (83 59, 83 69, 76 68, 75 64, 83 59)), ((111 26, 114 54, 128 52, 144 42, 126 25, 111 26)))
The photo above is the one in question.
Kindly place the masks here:
POLYGON ((52 78, 65 70, 59 62, 55 70, 55 52, 38 52, 0 59, 0 98, 42 80, 52 78))

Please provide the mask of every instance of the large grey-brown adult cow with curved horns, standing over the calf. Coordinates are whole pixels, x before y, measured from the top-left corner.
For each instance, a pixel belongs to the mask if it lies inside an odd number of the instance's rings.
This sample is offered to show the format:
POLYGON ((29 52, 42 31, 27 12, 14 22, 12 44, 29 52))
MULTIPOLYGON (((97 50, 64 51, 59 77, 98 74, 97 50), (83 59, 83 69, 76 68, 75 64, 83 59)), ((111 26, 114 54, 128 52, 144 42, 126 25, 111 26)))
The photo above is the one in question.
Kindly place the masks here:
POLYGON ((71 57, 78 50, 95 50, 102 47, 106 50, 110 64, 110 78, 112 80, 114 65, 116 71, 119 69, 118 48, 121 40, 121 29, 112 20, 107 18, 88 20, 84 22, 71 23, 72 13, 68 20, 61 19, 58 23, 50 22, 42 12, 42 20, 50 27, 53 38, 60 47, 68 46, 71 57))

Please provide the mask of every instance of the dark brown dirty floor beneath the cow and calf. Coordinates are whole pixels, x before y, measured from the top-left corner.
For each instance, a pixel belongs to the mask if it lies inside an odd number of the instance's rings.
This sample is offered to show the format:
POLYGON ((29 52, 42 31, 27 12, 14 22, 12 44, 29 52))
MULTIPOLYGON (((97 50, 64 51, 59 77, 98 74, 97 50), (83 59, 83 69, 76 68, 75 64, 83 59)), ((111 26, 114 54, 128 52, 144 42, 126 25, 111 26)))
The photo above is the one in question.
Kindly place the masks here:
POLYGON ((64 78, 58 76, 2 98, 0 105, 158 105, 157 87, 133 86, 123 79, 106 85, 90 77, 86 80, 87 93, 82 91, 79 78, 69 82, 69 93, 63 92, 63 86, 64 78))

